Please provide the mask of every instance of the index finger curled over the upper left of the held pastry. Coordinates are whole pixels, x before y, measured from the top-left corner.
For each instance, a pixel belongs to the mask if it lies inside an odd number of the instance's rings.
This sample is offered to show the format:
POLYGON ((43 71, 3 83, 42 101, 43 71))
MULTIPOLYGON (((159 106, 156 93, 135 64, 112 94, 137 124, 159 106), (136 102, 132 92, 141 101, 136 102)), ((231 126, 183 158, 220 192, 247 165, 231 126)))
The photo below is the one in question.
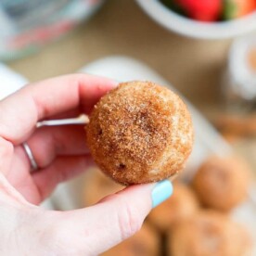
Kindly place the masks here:
POLYGON ((25 86, 0 102, 0 137, 19 144, 36 122, 71 109, 88 113, 116 82, 87 74, 72 74, 25 86))

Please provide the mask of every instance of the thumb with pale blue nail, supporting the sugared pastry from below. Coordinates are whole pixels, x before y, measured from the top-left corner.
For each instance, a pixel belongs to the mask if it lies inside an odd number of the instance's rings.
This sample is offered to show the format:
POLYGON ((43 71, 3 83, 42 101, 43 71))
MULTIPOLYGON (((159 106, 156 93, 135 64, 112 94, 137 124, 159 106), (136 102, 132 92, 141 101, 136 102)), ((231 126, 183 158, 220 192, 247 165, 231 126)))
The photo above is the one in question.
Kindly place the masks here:
POLYGON ((133 236, 152 207, 172 193, 166 180, 127 187, 83 210, 58 212, 53 250, 59 255, 98 255, 133 236))

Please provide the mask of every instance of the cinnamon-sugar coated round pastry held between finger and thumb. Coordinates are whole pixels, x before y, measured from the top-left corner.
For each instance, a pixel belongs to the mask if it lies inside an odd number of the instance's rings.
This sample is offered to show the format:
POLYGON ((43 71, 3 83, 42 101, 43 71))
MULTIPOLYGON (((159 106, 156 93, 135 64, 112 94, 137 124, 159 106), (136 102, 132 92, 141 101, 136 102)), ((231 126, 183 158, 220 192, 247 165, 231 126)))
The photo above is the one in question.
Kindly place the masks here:
POLYGON ((99 168, 123 185, 156 182, 180 172, 193 144, 184 102, 149 82, 121 83, 103 96, 85 129, 99 168))

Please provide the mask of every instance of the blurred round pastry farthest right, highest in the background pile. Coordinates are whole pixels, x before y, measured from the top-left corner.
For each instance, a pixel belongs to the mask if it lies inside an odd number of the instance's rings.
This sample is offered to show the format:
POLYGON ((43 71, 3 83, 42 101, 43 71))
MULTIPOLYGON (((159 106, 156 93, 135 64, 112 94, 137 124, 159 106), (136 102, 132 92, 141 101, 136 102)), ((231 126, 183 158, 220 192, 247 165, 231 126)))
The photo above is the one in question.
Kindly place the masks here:
POLYGON ((220 211, 230 211, 242 202, 249 183, 249 167, 236 157, 211 157, 200 166, 192 181, 202 204, 220 211))

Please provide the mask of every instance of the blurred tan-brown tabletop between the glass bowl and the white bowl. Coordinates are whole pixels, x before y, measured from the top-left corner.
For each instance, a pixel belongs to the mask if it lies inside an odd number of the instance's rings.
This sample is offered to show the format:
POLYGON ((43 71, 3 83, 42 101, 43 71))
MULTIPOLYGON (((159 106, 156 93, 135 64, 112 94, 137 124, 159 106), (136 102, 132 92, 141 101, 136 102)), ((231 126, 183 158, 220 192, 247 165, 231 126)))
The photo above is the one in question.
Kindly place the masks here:
MULTIPOLYGON (((97 58, 129 56, 170 81, 211 122, 224 113, 222 82, 232 39, 181 36, 150 19, 135 1, 111 0, 105 1, 94 17, 55 41, 9 61, 8 66, 34 82, 75 72, 97 58)), ((255 149, 248 148, 243 147, 246 157, 256 159, 255 149)))

